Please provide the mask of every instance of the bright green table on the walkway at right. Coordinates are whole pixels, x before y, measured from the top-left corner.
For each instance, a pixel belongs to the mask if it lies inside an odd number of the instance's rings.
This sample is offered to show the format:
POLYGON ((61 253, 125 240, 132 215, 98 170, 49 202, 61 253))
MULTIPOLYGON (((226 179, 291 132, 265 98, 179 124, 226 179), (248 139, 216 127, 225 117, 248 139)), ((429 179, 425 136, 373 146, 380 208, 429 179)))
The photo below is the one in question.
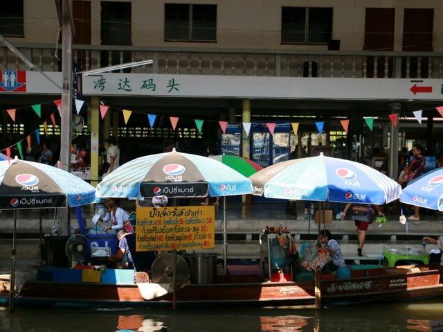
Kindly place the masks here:
POLYGON ((383 250, 383 265, 399 266, 410 264, 428 264, 429 254, 415 248, 388 248, 383 250))

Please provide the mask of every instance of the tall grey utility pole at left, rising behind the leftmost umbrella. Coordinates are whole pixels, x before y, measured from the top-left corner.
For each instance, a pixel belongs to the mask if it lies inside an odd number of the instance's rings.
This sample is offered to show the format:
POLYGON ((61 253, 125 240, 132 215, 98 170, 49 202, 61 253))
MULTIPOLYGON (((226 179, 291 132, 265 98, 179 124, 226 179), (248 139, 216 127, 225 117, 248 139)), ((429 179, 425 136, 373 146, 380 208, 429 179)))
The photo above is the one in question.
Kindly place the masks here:
MULTIPOLYGON (((57 0, 55 1, 58 2, 57 0)), ((60 11, 59 11, 60 13, 60 11)), ((71 114, 72 114, 72 0, 62 0, 62 122, 60 125, 60 168, 71 168, 71 114)), ((59 15, 60 19, 60 15, 59 15)), ((60 209, 60 235, 70 235, 69 208, 60 209)))

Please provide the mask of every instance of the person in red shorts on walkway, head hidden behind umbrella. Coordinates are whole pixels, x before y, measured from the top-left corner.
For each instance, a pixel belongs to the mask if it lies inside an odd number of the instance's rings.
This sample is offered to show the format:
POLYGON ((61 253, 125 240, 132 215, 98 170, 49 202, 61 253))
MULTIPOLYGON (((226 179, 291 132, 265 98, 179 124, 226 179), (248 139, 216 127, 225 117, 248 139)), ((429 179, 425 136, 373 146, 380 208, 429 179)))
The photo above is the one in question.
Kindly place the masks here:
MULTIPOLYGON (((341 213, 341 220, 346 216, 347 211, 351 207, 351 203, 347 203, 343 212, 341 213)), ((383 216, 379 205, 374 205, 379 216, 383 216)), ((357 240, 359 241, 359 248, 357 249, 357 254, 363 256, 362 250, 365 244, 366 231, 368 230, 369 224, 372 222, 372 217, 375 211, 370 204, 354 204, 352 207, 352 219, 357 227, 357 240)))

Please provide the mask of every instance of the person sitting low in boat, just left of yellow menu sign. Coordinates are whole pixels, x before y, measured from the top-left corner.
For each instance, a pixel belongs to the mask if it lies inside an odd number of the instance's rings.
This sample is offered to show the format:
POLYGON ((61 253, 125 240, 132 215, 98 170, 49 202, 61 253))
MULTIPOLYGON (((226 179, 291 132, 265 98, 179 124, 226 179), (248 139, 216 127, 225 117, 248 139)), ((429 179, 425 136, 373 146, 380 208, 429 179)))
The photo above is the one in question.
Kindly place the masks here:
POLYGON ((117 233, 118 251, 108 257, 108 263, 119 268, 134 269, 138 272, 147 272, 154 262, 154 252, 137 252, 136 236, 120 229, 117 233))

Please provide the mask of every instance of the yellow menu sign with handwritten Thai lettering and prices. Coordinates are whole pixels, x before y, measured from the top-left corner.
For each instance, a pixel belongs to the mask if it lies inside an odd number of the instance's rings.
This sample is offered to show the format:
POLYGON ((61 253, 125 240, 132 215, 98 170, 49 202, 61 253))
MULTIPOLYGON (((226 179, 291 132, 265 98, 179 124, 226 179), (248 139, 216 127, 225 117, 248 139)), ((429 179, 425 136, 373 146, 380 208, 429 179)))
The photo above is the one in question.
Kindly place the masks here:
POLYGON ((136 251, 213 248, 215 209, 199 207, 137 207, 136 251))

